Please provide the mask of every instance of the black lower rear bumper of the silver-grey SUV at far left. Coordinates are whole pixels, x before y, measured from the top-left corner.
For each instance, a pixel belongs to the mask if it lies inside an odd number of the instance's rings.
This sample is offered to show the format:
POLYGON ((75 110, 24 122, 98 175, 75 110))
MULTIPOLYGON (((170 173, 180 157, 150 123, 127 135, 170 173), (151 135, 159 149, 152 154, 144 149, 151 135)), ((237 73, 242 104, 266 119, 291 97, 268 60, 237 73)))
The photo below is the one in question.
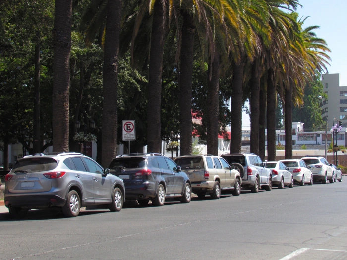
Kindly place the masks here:
POLYGON ((11 195, 5 196, 5 206, 23 207, 23 208, 48 208, 51 206, 62 207, 66 203, 66 199, 58 195, 11 195))

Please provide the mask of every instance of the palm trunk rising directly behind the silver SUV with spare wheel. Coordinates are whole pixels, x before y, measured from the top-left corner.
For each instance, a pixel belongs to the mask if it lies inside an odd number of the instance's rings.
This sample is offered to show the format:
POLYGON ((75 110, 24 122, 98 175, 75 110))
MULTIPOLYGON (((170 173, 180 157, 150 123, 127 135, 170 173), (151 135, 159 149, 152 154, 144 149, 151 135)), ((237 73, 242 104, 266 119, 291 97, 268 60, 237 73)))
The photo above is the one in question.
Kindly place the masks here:
POLYGON ((241 153, 242 145, 242 97, 243 97, 243 72, 245 61, 236 64, 232 75, 231 94, 231 140, 230 153, 241 153))

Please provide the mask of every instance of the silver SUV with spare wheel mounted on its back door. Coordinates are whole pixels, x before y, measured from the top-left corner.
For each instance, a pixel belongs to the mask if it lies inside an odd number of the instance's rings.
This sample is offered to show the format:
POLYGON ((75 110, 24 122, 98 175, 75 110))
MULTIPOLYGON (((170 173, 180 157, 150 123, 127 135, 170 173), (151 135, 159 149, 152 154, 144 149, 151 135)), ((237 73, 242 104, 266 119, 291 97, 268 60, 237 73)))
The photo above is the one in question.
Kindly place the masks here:
POLYGON ((253 153, 240 153, 224 154, 221 157, 239 171, 242 178, 241 187, 249 188, 255 193, 260 188, 271 191, 271 170, 265 168, 265 163, 259 156, 253 153))

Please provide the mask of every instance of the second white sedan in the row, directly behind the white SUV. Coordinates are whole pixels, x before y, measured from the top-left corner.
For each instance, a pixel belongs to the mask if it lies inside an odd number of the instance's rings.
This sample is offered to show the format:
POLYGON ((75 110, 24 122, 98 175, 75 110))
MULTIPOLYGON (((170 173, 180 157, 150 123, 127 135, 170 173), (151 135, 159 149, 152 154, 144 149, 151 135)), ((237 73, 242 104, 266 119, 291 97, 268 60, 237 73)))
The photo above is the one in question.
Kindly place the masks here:
POLYGON ((293 175, 294 183, 304 186, 313 184, 313 175, 306 163, 301 159, 288 159, 280 160, 286 167, 289 168, 290 173, 293 175))

